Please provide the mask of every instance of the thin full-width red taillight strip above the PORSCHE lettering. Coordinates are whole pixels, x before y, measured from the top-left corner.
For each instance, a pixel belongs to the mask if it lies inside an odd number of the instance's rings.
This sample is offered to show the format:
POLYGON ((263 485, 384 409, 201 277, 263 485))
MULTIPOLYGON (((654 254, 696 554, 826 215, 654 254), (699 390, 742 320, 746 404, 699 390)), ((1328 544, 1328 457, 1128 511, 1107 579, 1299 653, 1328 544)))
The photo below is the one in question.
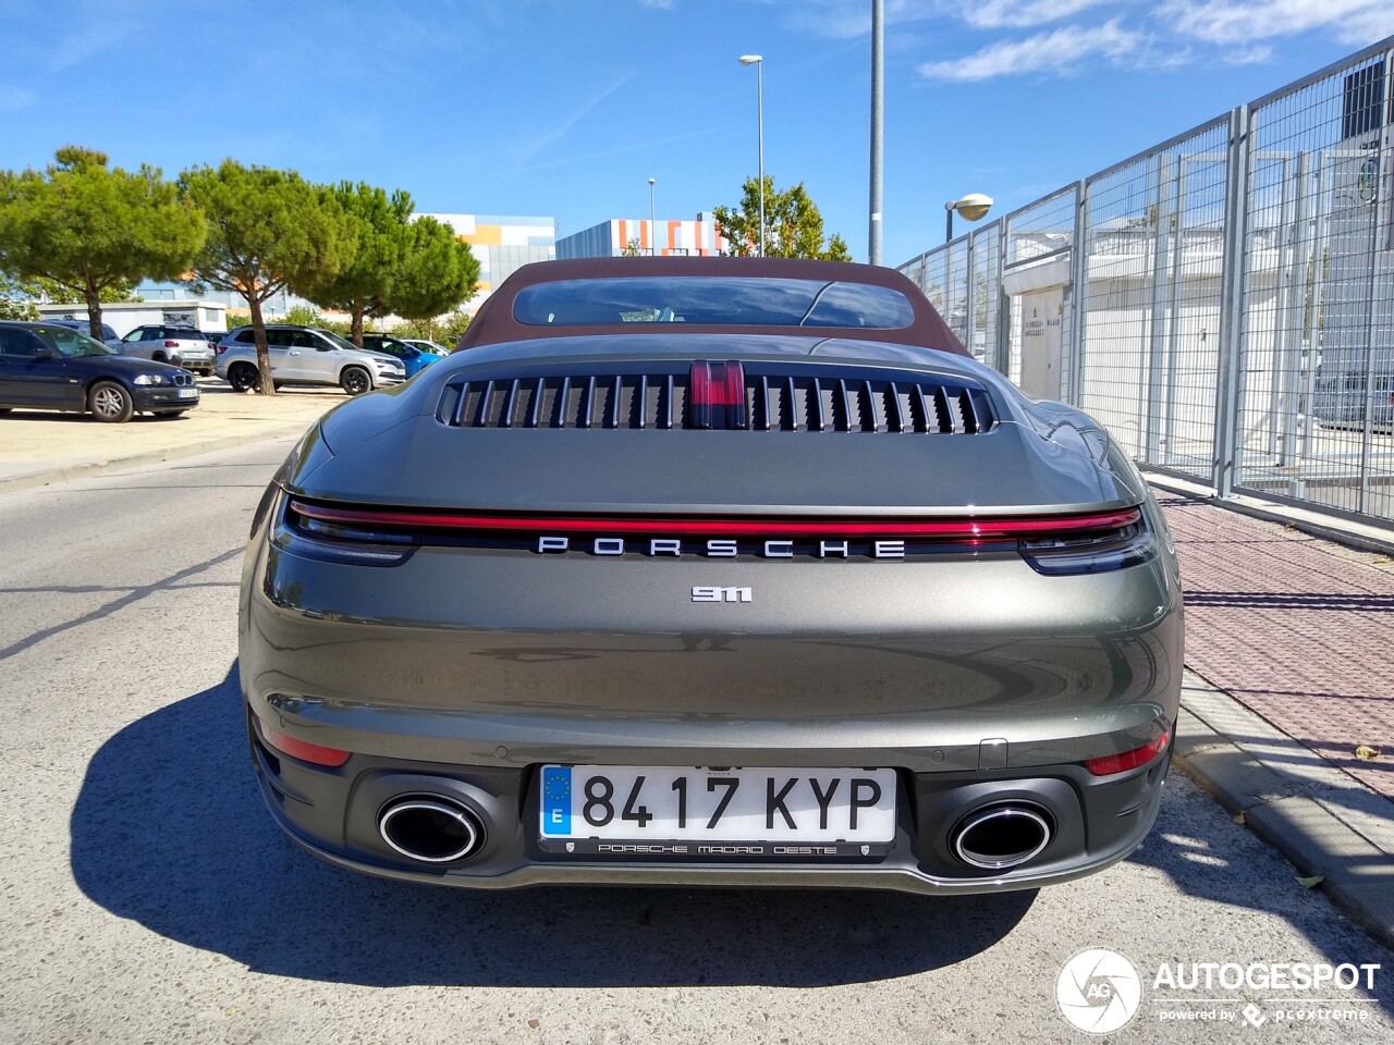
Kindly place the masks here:
POLYGON ((346 527, 411 529, 505 529, 530 534, 664 534, 693 536, 905 536, 993 541, 1041 538, 1052 534, 1086 534, 1122 529, 1142 518, 1139 509, 1075 516, 1020 516, 997 518, 664 518, 652 516, 505 516, 482 511, 410 511, 344 509, 291 500, 290 509, 305 518, 346 527))

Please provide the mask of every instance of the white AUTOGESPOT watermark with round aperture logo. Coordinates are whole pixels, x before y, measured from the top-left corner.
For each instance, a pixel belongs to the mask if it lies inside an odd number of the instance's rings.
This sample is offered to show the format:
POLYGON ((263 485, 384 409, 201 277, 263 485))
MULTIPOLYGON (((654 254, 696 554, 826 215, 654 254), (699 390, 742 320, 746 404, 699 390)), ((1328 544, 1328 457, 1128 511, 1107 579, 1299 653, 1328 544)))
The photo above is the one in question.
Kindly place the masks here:
POLYGON ((1061 1014, 1090 1034, 1111 1034, 1139 1013, 1158 1023, 1232 1023, 1252 1028, 1370 1021, 1377 963, 1171 961, 1143 977, 1117 952, 1075 954, 1055 980, 1061 1014), (1143 993, 1150 1007, 1144 1007, 1143 993), (1238 996, 1223 996, 1234 992, 1238 996), (1260 996, 1262 995, 1262 996, 1260 996))

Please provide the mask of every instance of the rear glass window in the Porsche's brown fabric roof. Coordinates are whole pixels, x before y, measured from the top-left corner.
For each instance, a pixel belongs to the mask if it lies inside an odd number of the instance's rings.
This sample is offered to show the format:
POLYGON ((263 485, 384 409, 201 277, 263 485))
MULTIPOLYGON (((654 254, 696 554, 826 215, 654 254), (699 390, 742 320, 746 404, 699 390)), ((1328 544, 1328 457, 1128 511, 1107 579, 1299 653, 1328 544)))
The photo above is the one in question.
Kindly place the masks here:
POLYGON ((910 300, 870 283, 650 276, 559 280, 524 287, 513 319, 527 326, 817 326, 896 330, 914 322, 910 300))

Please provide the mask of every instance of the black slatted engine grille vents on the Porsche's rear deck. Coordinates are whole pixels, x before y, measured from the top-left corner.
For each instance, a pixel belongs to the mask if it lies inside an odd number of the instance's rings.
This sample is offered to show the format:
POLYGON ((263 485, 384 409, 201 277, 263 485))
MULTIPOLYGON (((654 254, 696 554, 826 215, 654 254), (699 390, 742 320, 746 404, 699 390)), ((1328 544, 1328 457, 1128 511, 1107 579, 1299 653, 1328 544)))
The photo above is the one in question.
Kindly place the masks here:
MULTIPOLYGON (((452 382, 436 419, 452 428, 679 429, 694 424, 690 373, 572 373, 452 382)), ((979 435, 997 418, 987 392, 846 368, 744 368, 742 424, 757 432, 914 432, 979 435), (817 371, 817 372, 814 372, 817 371)))

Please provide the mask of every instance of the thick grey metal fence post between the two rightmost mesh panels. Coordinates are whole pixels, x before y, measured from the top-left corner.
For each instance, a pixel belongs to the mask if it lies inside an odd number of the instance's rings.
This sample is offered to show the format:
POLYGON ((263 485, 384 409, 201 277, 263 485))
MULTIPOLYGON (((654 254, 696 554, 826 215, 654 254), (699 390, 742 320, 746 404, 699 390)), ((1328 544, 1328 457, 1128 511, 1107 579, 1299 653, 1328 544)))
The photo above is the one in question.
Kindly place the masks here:
POLYGON ((1249 269, 1249 106, 1230 113, 1228 170, 1225 171, 1225 277, 1220 295, 1220 387, 1216 393, 1216 495, 1234 495, 1235 468, 1239 458, 1239 376, 1243 365, 1243 290, 1249 269))

